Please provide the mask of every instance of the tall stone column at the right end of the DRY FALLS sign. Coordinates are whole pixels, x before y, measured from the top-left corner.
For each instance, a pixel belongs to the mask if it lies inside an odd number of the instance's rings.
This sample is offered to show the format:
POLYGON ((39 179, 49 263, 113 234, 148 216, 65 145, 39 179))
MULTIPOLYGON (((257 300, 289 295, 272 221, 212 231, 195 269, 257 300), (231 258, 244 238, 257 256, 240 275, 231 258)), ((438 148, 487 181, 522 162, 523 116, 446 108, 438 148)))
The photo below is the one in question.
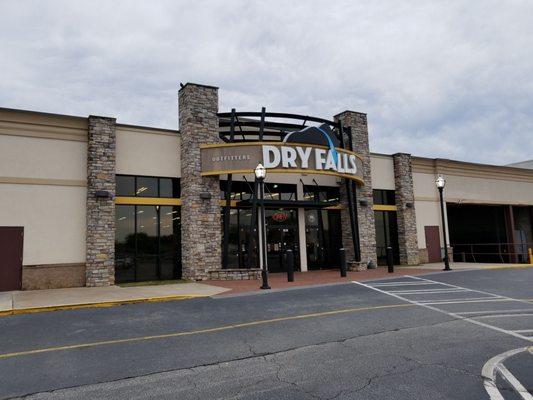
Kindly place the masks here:
MULTIPOLYGON (((355 111, 344 111, 335 117, 335 121, 341 121, 344 127, 352 128, 354 151, 363 159, 364 186, 357 186, 357 223, 359 225, 359 243, 361 246, 361 263, 366 266, 369 261, 377 264, 376 254, 376 227, 374 223, 374 196, 372 194, 372 178, 370 175, 370 149, 368 146, 368 123, 366 114, 355 111)), ((342 218, 342 241, 348 249, 351 246, 350 219, 345 186, 341 187, 341 204, 345 211, 342 218), (348 236, 349 235, 349 236, 348 236), (350 246, 346 244, 350 243, 350 246)), ((353 259, 353 248, 351 257, 353 259)))

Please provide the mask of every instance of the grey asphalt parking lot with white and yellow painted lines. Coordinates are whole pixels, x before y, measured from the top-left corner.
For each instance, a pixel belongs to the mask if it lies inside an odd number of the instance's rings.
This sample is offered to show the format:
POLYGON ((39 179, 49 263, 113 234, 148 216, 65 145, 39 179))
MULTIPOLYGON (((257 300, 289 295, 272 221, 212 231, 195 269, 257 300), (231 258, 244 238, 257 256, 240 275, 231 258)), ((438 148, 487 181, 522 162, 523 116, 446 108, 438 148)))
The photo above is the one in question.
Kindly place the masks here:
POLYGON ((460 271, 3 317, 0 398, 527 399, 532 282, 460 271))

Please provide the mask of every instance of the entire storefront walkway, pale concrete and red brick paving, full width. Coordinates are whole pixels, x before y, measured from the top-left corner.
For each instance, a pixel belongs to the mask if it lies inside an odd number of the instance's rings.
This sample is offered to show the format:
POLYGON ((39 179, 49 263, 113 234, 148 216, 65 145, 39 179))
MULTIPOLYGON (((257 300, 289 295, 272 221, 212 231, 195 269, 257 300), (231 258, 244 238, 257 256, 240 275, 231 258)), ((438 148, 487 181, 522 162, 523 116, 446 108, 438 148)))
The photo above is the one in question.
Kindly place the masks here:
MULTIPOLYGON (((502 269, 527 268, 528 264, 473 264, 453 263, 452 269, 502 269)), ((338 270, 295 272, 295 281, 287 282, 286 273, 269 274, 272 289, 297 286, 315 286, 350 281, 365 281, 405 274, 419 275, 442 270, 442 263, 424 264, 415 267, 395 267, 392 274, 386 267, 361 272, 348 272, 341 278, 338 270)), ((42 311, 67 310, 87 307, 111 307, 120 304, 151 301, 183 300, 195 297, 236 294, 260 291, 259 280, 205 281, 204 283, 174 283, 151 286, 80 287, 68 289, 28 290, 0 293, 0 316, 27 314, 42 311)))

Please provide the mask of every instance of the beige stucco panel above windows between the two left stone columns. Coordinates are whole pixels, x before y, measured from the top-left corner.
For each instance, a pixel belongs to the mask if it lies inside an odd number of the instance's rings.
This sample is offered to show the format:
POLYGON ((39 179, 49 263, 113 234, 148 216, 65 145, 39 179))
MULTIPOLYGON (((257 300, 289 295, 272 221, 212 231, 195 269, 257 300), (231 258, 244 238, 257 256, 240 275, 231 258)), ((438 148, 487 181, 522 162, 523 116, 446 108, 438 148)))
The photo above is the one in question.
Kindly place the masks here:
POLYGON ((175 131, 117 125, 117 174, 180 177, 175 131))

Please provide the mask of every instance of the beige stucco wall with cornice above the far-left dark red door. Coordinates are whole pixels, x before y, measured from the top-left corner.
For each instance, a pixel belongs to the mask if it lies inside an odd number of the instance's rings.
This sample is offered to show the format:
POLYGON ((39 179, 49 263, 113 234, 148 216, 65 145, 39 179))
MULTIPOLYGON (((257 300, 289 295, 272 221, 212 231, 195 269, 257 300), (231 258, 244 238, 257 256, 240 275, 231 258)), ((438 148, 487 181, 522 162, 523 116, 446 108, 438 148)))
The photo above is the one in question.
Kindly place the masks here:
POLYGON ((0 226, 24 227, 24 265, 85 261, 85 118, 0 109, 0 226))

